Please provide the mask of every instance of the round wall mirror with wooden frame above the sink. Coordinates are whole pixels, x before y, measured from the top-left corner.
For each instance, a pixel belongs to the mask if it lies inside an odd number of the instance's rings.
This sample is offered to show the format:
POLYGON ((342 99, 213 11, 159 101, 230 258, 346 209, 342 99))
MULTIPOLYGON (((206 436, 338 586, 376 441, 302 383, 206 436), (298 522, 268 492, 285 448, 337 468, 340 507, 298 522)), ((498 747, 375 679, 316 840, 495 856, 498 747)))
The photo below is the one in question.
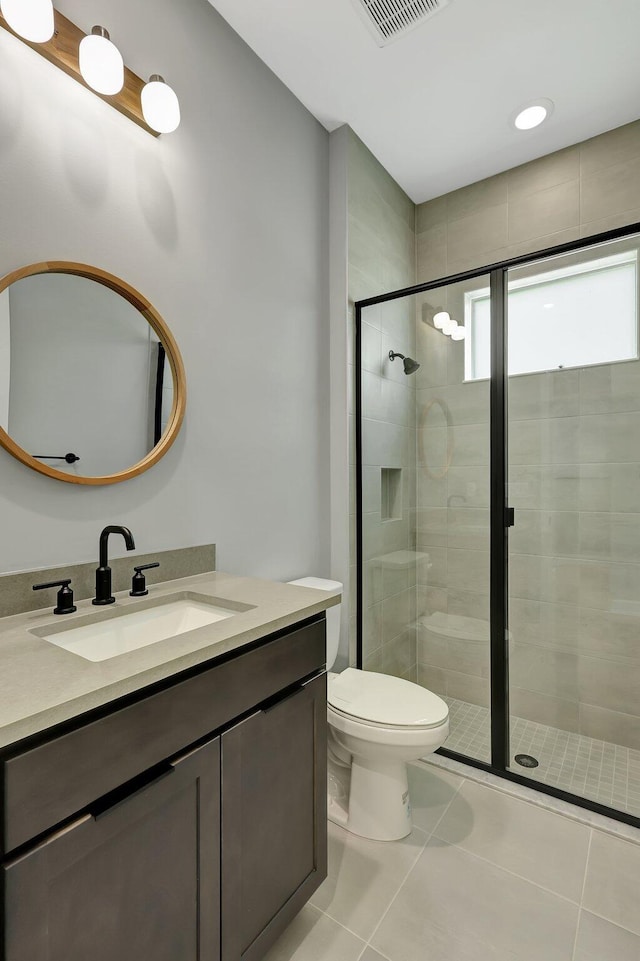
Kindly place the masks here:
POLYGON ((0 281, 0 444, 23 464, 72 484, 135 477, 185 403, 171 331, 124 281, 62 261, 0 281))

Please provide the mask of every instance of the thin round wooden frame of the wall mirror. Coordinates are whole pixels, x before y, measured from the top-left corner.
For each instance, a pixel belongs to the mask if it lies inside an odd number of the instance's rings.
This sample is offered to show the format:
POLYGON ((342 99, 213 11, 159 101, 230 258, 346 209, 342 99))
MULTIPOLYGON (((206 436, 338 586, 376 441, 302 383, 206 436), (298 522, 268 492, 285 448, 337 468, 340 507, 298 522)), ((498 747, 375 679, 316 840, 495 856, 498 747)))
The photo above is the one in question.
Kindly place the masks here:
POLYGON ((174 385, 173 406, 167 427, 153 450, 149 451, 147 456, 143 457, 137 464, 128 467, 126 470, 119 471, 117 474, 107 474, 103 477, 83 477, 81 475, 67 474, 64 471, 56 470, 55 467, 49 467, 48 464, 43 464, 35 457, 32 457, 31 454, 27 453, 19 444, 16 444, 13 438, 10 437, 2 427, 0 427, 0 445, 32 470, 38 471, 39 474, 45 474, 47 477, 53 477, 55 480, 65 481, 67 484, 99 486, 104 484, 117 484, 120 481, 129 480, 131 477, 137 477, 138 474, 149 470, 161 457, 164 457, 178 436, 178 431, 184 420, 187 403, 187 384, 184 364, 173 334, 155 307, 150 304, 142 294, 138 293, 134 287, 131 287, 124 280, 120 280, 119 277, 109 274, 105 270, 100 270, 99 267, 91 267, 88 264, 77 264, 65 260, 49 260, 40 264, 30 264, 28 267, 21 267, 19 270, 12 271, 12 273, 7 274, 6 277, 0 280, 0 294, 18 280, 24 280, 25 277, 33 277, 36 274, 74 274, 76 277, 94 280, 104 287, 115 291, 115 293, 120 294, 132 307, 135 307, 158 335, 165 349, 166 356, 169 359, 174 385))

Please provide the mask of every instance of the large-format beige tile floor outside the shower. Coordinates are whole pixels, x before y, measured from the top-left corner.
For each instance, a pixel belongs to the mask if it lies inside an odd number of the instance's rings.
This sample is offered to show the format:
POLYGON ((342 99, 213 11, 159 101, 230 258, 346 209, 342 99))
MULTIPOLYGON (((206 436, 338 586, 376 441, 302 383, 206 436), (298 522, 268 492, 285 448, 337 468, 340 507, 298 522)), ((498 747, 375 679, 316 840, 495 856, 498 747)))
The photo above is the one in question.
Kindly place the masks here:
POLYGON ((329 876, 265 961, 638 961, 640 831, 430 763, 409 774, 412 834, 330 824, 329 876))

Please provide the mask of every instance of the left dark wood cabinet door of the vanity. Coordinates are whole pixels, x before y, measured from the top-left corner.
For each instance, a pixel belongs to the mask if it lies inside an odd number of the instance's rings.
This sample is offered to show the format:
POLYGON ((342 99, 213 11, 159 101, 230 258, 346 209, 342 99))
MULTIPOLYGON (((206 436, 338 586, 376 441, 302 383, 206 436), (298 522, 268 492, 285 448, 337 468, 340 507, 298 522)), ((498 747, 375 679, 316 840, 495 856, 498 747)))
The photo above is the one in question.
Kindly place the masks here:
POLYGON ((5 866, 5 961, 218 961, 220 741, 5 866))

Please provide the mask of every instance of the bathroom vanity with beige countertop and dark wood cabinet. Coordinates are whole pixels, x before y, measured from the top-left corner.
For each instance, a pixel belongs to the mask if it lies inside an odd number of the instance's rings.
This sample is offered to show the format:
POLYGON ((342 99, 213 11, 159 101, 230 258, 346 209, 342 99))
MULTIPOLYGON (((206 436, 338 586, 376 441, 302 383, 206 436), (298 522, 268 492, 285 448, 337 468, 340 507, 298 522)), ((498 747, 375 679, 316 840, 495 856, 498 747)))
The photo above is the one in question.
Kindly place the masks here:
MULTIPOLYGON (((240 609, 99 663, 43 640, 49 612, 0 621, 0 722, 29 662, 39 707, 18 718, 17 692, 0 723, 3 961, 257 961, 326 876, 339 597, 212 574, 146 603, 185 588, 240 609)), ((123 616, 86 604, 67 628, 123 616)))

